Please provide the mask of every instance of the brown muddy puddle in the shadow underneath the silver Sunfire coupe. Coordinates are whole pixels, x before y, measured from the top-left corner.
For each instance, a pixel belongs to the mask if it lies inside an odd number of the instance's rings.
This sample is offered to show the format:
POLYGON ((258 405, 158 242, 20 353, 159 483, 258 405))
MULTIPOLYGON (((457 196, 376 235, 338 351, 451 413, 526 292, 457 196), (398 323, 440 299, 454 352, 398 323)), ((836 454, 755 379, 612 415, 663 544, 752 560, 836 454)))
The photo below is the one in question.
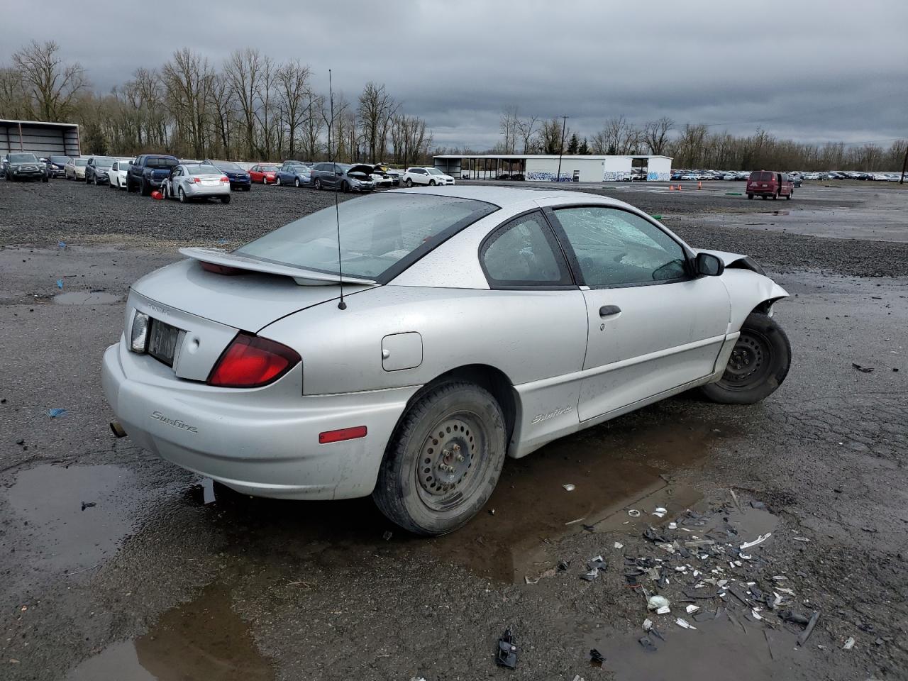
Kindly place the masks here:
MULTIPOLYGON (((658 409, 629 416, 554 442, 525 459, 508 459, 486 508, 449 536, 415 538, 385 519, 370 498, 345 501, 281 501, 249 498, 213 486, 212 522, 245 550, 292 564, 345 568, 350 552, 388 551, 458 564, 483 577, 522 582, 537 564, 550 566, 555 540, 569 533, 637 528, 655 518, 628 518, 626 508, 683 510, 699 492, 671 484, 675 469, 698 469, 717 446, 732 439, 725 423, 658 409), (567 491, 563 485, 573 485, 567 491), (627 523, 627 526, 624 525, 627 523), (390 539, 383 536, 390 532, 390 539)), ((198 486, 192 502, 204 504, 211 489, 198 486)), ((648 511, 647 511, 648 513, 648 511)), ((645 527, 645 525, 643 526, 645 527)), ((557 562, 557 560, 556 560, 557 562)))

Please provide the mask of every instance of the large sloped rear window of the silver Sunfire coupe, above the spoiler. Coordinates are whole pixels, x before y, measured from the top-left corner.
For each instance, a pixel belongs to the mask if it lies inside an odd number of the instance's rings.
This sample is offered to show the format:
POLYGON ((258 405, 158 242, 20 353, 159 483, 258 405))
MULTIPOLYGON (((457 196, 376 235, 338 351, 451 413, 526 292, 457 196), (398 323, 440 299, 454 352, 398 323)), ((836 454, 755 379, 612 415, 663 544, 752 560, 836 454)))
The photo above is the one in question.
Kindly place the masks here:
MULTIPOLYGON (((351 277, 376 279, 416 260, 450 235, 498 210, 491 203, 415 193, 381 193, 342 202, 341 262, 351 277)), ((313 212, 235 252, 307 270, 338 273, 335 207, 313 212)))

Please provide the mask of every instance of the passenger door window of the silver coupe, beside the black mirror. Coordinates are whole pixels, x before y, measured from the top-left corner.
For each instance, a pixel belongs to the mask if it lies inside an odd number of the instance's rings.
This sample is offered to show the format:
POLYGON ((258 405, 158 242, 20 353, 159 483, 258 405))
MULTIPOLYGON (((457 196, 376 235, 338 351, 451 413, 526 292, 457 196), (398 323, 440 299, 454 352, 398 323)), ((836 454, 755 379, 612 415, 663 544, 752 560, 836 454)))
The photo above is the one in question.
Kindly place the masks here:
POLYGON ((590 287, 635 286, 686 278, 681 244, 632 212, 607 206, 555 211, 590 287))

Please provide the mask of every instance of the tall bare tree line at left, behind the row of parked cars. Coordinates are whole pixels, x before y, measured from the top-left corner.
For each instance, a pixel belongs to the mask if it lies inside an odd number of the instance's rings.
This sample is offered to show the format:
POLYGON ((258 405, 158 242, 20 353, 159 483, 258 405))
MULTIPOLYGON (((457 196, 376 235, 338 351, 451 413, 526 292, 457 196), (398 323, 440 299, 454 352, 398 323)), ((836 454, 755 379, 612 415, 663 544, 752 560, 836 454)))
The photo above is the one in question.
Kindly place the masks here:
POLYGON ((73 122, 84 153, 173 153, 246 161, 425 163, 432 133, 383 84, 355 99, 313 86, 311 68, 258 49, 223 64, 183 48, 158 68, 138 68, 110 93, 53 41, 33 41, 0 65, 0 118, 73 122), (328 146, 329 132, 331 148, 328 146))

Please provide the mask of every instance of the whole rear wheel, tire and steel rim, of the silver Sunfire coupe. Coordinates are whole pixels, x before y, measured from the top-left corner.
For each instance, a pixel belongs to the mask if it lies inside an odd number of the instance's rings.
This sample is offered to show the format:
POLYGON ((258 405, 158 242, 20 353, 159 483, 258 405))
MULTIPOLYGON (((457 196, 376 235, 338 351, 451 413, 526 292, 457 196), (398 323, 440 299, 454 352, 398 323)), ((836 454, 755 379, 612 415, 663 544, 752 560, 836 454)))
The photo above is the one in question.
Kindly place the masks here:
POLYGON ((507 440, 504 414, 488 390, 459 381, 439 385, 400 419, 372 498, 410 532, 427 537, 453 532, 489 500, 507 440), (435 477, 439 470, 443 484, 435 477))

